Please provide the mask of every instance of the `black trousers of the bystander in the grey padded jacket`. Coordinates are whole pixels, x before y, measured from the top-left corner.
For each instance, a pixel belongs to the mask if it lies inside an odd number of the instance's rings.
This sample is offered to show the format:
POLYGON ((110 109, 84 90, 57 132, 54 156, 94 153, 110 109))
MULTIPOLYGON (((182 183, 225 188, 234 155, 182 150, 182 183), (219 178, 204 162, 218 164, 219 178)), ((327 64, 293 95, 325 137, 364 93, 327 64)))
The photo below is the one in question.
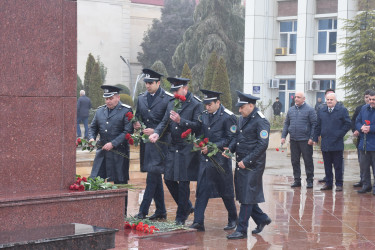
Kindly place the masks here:
POLYGON ((307 142, 290 140, 293 176, 296 182, 301 182, 301 154, 305 162, 306 181, 312 182, 314 178, 313 146, 307 142))

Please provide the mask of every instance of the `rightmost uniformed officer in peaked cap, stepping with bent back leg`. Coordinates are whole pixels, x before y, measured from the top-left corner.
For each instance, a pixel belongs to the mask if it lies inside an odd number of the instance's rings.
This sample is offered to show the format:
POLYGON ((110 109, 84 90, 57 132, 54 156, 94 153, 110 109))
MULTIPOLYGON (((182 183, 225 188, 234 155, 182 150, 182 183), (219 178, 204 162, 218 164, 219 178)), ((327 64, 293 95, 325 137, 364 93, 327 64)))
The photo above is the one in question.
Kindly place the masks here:
POLYGON ((270 124, 255 106, 258 97, 237 91, 241 117, 238 123, 237 136, 229 145, 231 152, 236 152, 237 166, 234 182, 236 199, 241 203, 236 231, 228 239, 247 237, 250 216, 257 224, 253 234, 260 233, 271 223, 271 219, 258 206, 264 202, 263 172, 266 165, 270 124))

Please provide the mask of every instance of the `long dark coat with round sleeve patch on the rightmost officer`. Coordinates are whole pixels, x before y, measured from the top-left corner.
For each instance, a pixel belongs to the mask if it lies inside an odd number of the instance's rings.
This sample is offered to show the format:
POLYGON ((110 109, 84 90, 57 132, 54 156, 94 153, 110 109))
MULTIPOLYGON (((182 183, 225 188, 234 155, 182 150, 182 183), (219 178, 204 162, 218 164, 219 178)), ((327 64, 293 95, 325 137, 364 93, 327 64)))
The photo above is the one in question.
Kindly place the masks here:
POLYGON ((270 124, 258 108, 248 117, 240 117, 237 136, 229 149, 236 152, 237 162, 243 161, 246 166, 241 169, 237 165, 234 175, 236 199, 241 204, 264 202, 263 172, 269 132, 270 124))

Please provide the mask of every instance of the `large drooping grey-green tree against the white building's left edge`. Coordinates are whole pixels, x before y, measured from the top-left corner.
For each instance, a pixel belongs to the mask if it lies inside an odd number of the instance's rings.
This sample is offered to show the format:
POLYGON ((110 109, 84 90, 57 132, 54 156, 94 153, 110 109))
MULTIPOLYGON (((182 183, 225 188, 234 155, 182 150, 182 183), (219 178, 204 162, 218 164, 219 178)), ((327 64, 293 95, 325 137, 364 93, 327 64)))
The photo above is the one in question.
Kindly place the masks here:
POLYGON ((187 62, 192 67, 193 81, 202 84, 207 61, 215 51, 228 65, 235 97, 235 90, 243 89, 244 35, 240 0, 201 0, 194 12, 194 24, 186 30, 172 57, 173 66, 181 68, 187 62))

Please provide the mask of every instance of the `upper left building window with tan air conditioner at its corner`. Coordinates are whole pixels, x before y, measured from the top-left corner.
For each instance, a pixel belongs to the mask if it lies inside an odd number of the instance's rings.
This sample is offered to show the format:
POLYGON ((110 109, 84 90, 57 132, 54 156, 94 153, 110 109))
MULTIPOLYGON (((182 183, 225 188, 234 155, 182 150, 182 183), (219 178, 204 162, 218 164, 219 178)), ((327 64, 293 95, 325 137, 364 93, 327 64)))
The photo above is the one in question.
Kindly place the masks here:
POLYGON ((288 54, 297 50, 297 21, 280 22, 280 47, 287 48, 288 54))

